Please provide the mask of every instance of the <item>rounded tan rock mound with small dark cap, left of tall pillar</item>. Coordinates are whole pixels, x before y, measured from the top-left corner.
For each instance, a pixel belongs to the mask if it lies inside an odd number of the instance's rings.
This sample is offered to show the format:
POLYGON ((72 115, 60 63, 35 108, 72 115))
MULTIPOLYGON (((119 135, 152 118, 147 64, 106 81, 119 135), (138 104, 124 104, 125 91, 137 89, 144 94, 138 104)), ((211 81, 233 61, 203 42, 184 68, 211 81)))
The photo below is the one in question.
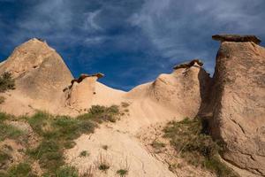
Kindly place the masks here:
POLYGON ((193 118, 201 109, 211 81, 201 65, 202 62, 195 59, 175 66, 173 73, 160 74, 155 81, 136 87, 127 96, 148 97, 155 103, 178 112, 183 118, 193 118))

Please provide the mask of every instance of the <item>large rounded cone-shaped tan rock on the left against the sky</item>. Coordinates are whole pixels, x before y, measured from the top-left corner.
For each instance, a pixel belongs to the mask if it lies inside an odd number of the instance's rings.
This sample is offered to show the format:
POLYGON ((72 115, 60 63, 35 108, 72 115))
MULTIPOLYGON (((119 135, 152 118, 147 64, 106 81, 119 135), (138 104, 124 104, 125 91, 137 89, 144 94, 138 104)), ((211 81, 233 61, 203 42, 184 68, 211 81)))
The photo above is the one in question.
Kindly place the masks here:
POLYGON ((11 72, 16 88, 25 96, 52 102, 72 81, 72 73, 56 50, 46 42, 32 39, 16 48, 0 66, 0 73, 11 72))

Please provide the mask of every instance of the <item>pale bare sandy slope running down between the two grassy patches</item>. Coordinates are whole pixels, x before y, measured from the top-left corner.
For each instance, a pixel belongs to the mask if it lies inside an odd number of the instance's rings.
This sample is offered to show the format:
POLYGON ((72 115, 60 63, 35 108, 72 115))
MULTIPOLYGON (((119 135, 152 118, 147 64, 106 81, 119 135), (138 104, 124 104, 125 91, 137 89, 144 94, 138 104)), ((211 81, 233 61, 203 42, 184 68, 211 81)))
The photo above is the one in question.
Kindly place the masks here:
MULTIPOLYGON (((96 161, 102 154, 110 162, 110 170, 108 173, 97 171, 97 176, 117 176, 117 170, 123 168, 126 161, 130 166, 128 176, 175 176, 168 170, 168 165, 154 158, 136 136, 146 125, 163 118, 172 118, 172 112, 163 110, 163 113, 155 113, 155 108, 158 107, 147 100, 135 101, 129 106, 129 116, 122 117, 115 124, 103 125, 93 135, 82 135, 76 141, 76 146, 66 152, 68 161, 81 171, 86 171, 87 167, 97 164, 96 161), (107 145, 108 150, 103 150, 103 145, 107 145), (82 150, 87 150, 90 156, 79 158, 82 150)), ((162 109, 156 111, 160 112, 162 109)))

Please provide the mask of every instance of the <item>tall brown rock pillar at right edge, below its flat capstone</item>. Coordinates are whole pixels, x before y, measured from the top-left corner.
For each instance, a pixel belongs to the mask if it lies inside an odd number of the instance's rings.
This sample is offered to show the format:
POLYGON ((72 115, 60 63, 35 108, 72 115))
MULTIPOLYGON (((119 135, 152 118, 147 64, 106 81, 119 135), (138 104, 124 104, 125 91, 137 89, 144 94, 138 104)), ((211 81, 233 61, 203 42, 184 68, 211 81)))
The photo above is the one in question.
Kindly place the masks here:
POLYGON ((222 42, 216 57, 211 133, 227 145, 223 158, 265 175, 265 49, 222 42))

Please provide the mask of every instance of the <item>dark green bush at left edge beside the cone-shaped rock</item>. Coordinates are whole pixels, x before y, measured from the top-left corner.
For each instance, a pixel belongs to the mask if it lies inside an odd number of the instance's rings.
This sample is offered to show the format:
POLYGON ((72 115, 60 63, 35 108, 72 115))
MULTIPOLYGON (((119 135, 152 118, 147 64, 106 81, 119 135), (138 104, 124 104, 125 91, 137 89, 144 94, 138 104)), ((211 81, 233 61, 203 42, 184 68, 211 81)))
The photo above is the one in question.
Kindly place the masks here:
POLYGON ((0 92, 5 92, 8 89, 15 89, 15 81, 11 77, 11 73, 4 72, 0 76, 0 92))

